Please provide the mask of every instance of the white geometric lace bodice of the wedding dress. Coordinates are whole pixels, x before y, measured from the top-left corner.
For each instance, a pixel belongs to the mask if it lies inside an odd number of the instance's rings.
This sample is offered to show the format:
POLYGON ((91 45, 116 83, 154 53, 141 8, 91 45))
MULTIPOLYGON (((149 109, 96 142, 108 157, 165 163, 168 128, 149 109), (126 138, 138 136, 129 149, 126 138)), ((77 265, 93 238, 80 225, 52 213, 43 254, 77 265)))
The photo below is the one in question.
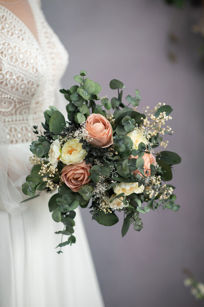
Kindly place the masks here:
POLYGON ((29 0, 38 41, 29 28, 0 5, 0 121, 9 143, 34 139, 33 125, 55 103, 67 53, 47 24, 38 0, 29 0))

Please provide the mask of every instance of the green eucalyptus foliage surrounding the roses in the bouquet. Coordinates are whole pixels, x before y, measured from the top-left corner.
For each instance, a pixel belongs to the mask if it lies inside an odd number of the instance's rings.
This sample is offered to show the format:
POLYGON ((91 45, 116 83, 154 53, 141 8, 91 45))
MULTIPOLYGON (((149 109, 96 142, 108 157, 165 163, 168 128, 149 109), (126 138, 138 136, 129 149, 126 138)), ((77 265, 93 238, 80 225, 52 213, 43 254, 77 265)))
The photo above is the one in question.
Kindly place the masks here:
MULTIPOLYGON (((136 231, 140 231, 143 228, 143 223, 139 217, 141 214, 147 213, 151 210, 157 209, 159 206, 163 208, 171 209, 173 211, 179 210, 179 205, 174 202, 176 197, 174 194, 168 193, 166 188, 172 187, 166 185, 164 188, 160 184, 152 185, 149 176, 146 176, 146 170, 144 169, 144 154, 149 154, 151 147, 157 147, 162 141, 162 137, 159 133, 152 136, 149 143, 146 145, 140 143, 138 149, 133 149, 133 141, 127 136, 128 133, 133 131, 135 127, 139 127, 143 124, 145 115, 133 110, 132 107, 139 105, 141 100, 140 93, 135 90, 135 97, 131 95, 126 96, 126 106, 123 101, 123 91, 125 88, 123 83, 117 79, 113 79, 110 82, 110 88, 116 90, 116 97, 99 98, 98 94, 101 87, 98 83, 90 80, 86 77, 86 71, 81 71, 80 74, 75 75, 75 84, 70 87, 70 89, 62 89, 60 92, 64 95, 66 99, 66 111, 67 119, 66 122, 62 113, 58 111, 56 107, 50 106, 44 112, 45 122, 42 123, 44 128, 44 135, 40 135, 37 126, 34 126, 35 133, 37 135, 37 141, 32 142, 31 151, 38 158, 43 158, 43 163, 48 163, 48 152, 50 144, 53 140, 72 138, 80 135, 81 131, 84 129, 84 123, 90 114, 101 114, 105 116, 111 123, 113 129, 113 145, 107 148, 102 148, 100 146, 93 146, 90 144, 86 138, 79 137, 80 143, 82 143, 82 148, 86 150, 87 154, 84 158, 84 162, 91 164, 89 171, 90 181, 83 185, 78 192, 73 192, 65 183, 61 185, 60 177, 62 168, 65 164, 62 161, 58 162, 57 171, 55 177, 52 175, 44 174, 41 176, 40 169, 41 165, 35 165, 32 169, 31 174, 27 177, 26 182, 22 185, 23 193, 30 196, 30 199, 35 199, 39 194, 36 191, 43 189, 52 189, 52 187, 46 187, 47 182, 43 181, 43 177, 52 180, 54 184, 60 185, 58 192, 53 194, 49 200, 48 207, 49 211, 52 212, 53 220, 57 223, 61 222, 64 228, 61 231, 57 231, 56 234, 62 236, 61 243, 58 245, 61 253, 61 248, 66 245, 71 245, 75 243, 74 226, 75 226, 75 209, 79 206, 86 208, 93 197, 90 204, 92 218, 97 221, 97 223, 112 226, 118 222, 118 217, 115 214, 114 209, 111 212, 104 212, 101 210, 100 201, 109 200, 109 206, 113 205, 116 199, 120 199, 123 204, 121 209, 118 211, 123 211, 124 220, 121 229, 121 234, 124 236, 129 230, 130 226, 136 231), (97 103, 100 100, 101 103, 97 103), (132 105, 132 107, 129 107, 132 105), (107 112, 110 110, 110 112, 107 112), (113 115, 111 115, 113 113, 113 115), (67 124, 67 125, 66 125, 67 124), (138 170, 139 174, 135 172, 138 170), (115 195, 114 187, 118 183, 136 183, 140 187, 141 185, 149 186, 153 191, 157 191, 152 198, 149 198, 144 190, 143 193, 132 193, 130 195, 125 195, 124 192, 115 195), (94 189, 98 189, 100 184, 103 186, 101 191, 105 193, 104 199, 100 200, 96 194, 94 194, 94 189), (105 192, 104 192, 105 191, 105 192), (160 195, 165 191, 166 198, 161 199, 160 195), (37 195, 36 195, 37 194, 37 195), (145 204, 146 203, 146 206, 145 204), (68 238, 63 242, 63 236, 66 235, 68 238)), ((166 112, 168 116, 172 111, 169 105, 161 106, 155 113, 158 117, 160 112, 166 112)), ((166 131, 167 132, 167 131, 166 131)), ((151 176, 161 176, 163 181, 172 179, 171 167, 174 164, 181 162, 181 158, 174 152, 171 151, 161 151, 157 155, 157 163, 150 165, 151 176)), ((172 187, 173 188, 173 187, 172 187)), ((171 192, 171 191, 170 191, 171 192)), ((108 211, 108 210, 107 210, 108 211)))

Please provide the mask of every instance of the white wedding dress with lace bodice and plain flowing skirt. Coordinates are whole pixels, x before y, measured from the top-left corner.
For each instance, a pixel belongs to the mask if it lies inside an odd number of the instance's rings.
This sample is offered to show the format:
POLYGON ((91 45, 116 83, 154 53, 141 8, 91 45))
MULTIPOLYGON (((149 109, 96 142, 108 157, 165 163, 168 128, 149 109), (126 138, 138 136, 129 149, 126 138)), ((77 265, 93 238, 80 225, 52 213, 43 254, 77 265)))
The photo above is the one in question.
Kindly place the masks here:
POLYGON ((39 2, 29 4, 38 40, 0 5, 0 306, 102 307, 80 212, 77 242, 58 255, 61 237, 54 232, 63 225, 52 220, 50 194, 20 204, 27 198, 21 184, 32 167, 33 125, 40 126, 49 105, 58 106, 58 83, 67 62, 39 2))

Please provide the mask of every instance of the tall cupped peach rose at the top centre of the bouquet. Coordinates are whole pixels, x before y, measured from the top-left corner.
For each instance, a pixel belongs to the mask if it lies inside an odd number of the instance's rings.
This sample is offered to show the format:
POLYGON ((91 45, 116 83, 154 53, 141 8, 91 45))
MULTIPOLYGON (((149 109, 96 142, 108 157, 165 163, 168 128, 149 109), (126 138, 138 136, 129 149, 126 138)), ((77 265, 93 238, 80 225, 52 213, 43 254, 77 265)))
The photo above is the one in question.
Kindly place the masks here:
POLYGON ((113 144, 113 130, 110 122, 101 114, 91 114, 86 120, 88 136, 86 140, 98 147, 108 147, 113 144))

